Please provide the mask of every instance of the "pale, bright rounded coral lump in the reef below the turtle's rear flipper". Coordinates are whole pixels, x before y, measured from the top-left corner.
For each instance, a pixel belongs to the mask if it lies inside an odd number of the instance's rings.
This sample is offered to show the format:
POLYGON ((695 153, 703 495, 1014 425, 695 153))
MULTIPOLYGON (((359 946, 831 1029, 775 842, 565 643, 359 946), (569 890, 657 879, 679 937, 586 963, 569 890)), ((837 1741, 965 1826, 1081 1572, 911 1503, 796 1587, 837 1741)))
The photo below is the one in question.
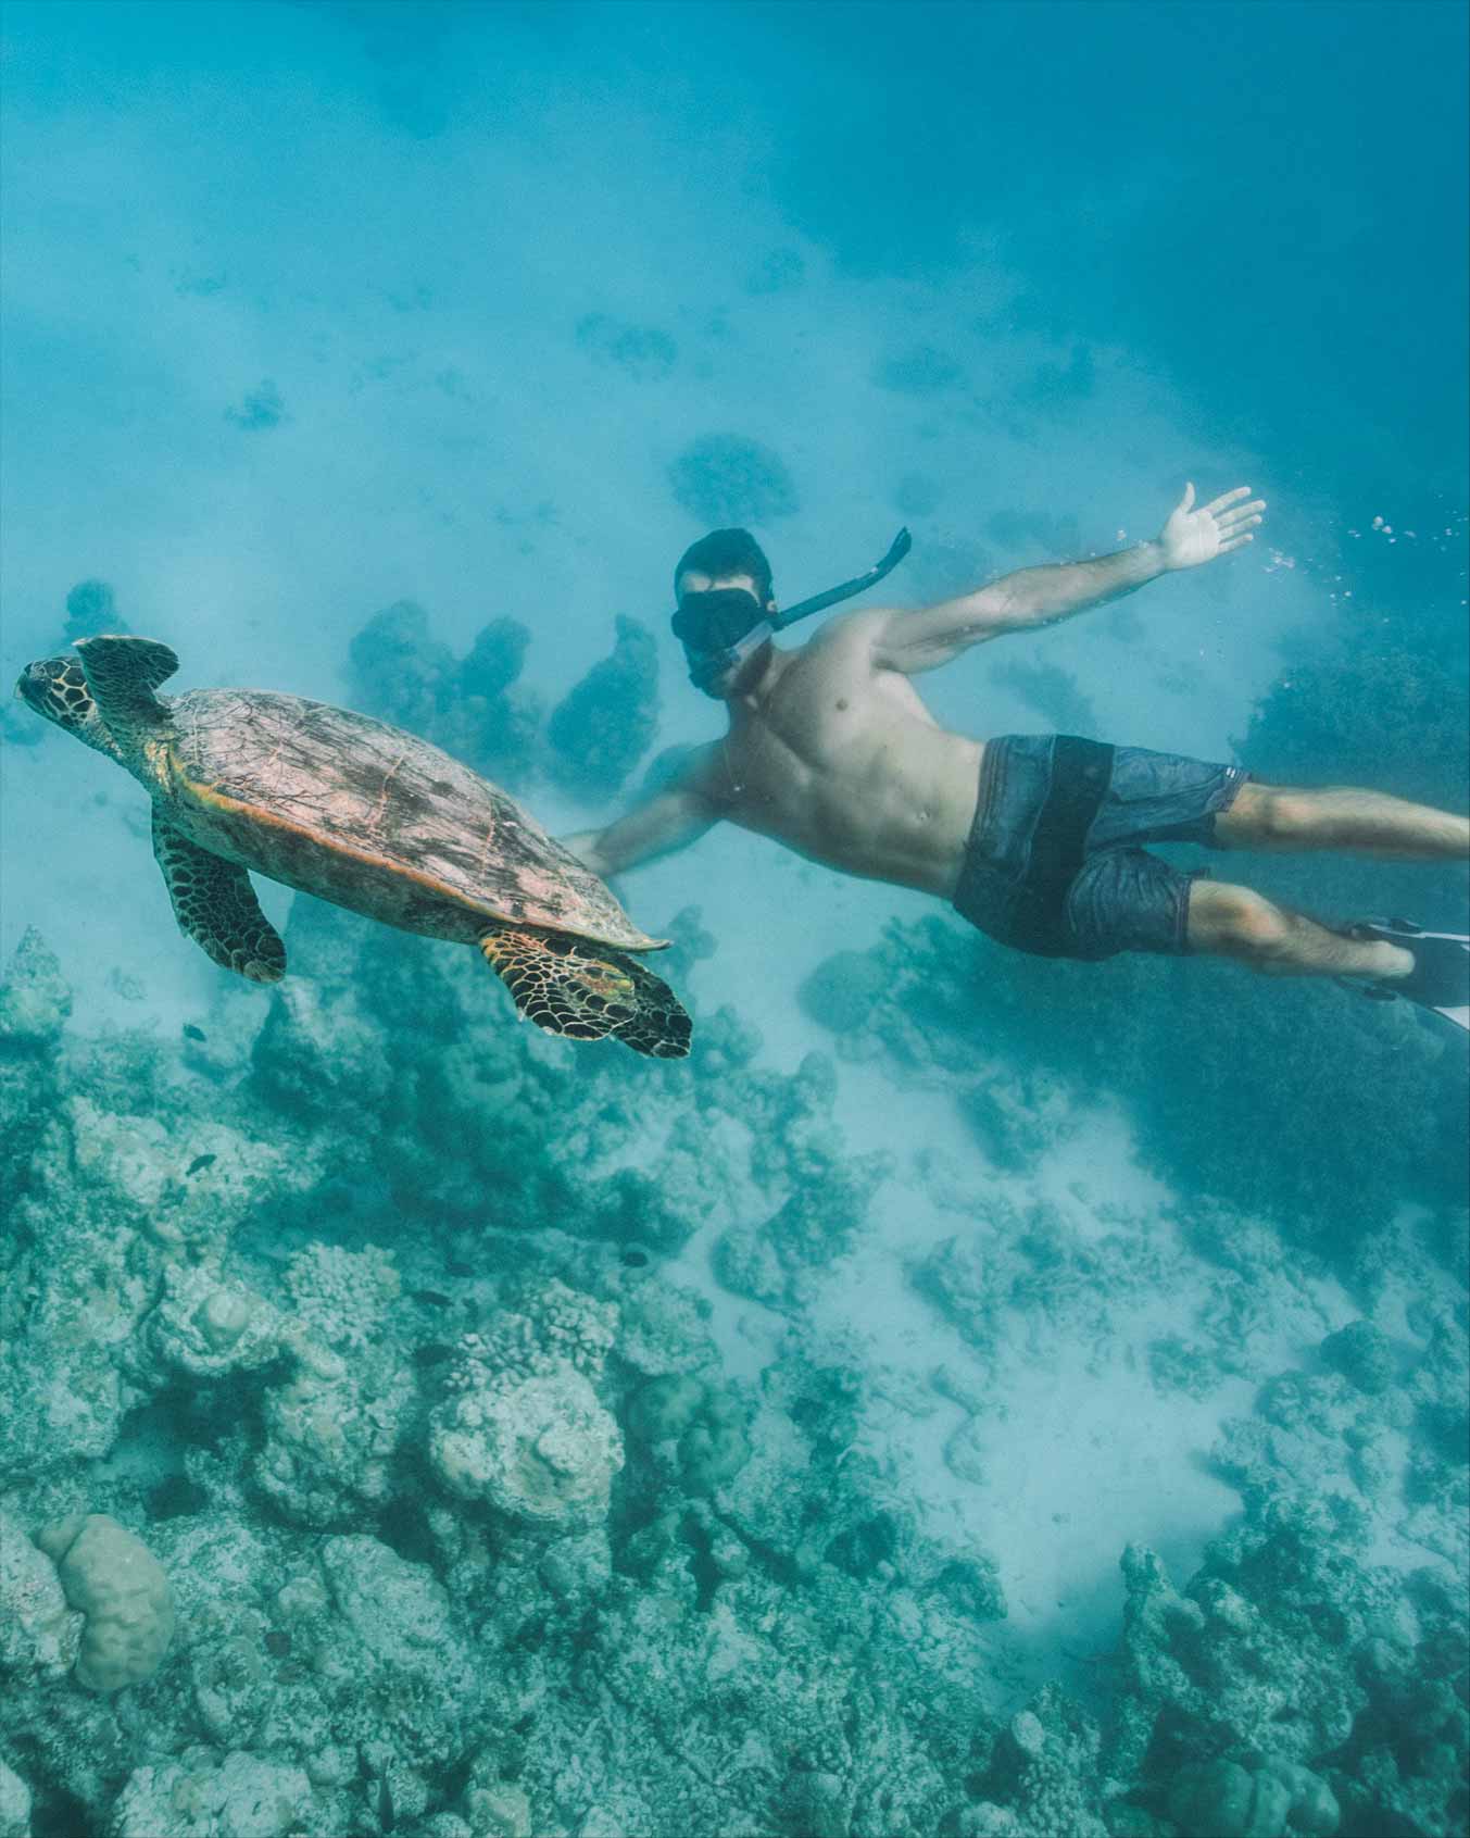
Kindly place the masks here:
POLYGON ((529 1378, 470 1380, 430 1424, 428 1458, 445 1487, 537 1531, 595 1526, 623 1467, 616 1421, 562 1362, 529 1378))

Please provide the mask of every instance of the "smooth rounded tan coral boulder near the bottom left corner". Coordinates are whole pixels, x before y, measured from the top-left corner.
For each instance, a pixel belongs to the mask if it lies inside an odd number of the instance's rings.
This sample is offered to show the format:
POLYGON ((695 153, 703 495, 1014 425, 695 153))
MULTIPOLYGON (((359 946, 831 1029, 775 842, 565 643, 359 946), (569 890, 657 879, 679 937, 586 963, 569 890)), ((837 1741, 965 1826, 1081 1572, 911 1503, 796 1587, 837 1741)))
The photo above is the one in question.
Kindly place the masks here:
POLYGON ((74 1513, 35 1542, 57 1566, 68 1605, 86 1617, 77 1680, 90 1691, 121 1691, 153 1678, 175 1617, 169 1579, 141 1538, 105 1513, 74 1513))

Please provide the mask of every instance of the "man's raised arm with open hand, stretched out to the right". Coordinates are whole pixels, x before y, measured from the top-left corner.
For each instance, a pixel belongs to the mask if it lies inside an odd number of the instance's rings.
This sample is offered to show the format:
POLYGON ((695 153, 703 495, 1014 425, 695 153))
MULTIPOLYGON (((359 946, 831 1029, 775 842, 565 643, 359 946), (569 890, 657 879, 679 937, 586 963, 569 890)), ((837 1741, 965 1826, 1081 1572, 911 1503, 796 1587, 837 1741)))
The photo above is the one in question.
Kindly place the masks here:
POLYGON ((1196 511, 1194 487, 1187 485, 1154 542, 1086 562, 1020 568, 978 594, 963 594, 921 612, 889 614, 875 638, 875 662, 911 676, 948 664, 987 638, 1069 619, 1174 568, 1196 568, 1238 550, 1253 540, 1251 528, 1264 509, 1264 500, 1251 498, 1250 485, 1237 485, 1196 511))

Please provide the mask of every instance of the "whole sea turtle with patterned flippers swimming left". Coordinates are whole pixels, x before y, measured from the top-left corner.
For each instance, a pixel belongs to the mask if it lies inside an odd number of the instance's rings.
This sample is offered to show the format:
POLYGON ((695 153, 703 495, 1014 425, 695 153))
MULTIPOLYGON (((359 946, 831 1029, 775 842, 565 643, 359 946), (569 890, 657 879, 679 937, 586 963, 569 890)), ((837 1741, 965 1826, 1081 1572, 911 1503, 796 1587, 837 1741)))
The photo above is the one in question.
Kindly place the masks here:
POLYGON ((369 919, 476 945, 520 1013, 575 1040, 680 1059, 689 1016, 625 952, 658 950, 603 882, 498 785, 426 741, 266 689, 158 686, 151 638, 85 638, 15 686, 153 798, 153 853, 184 932, 255 983, 287 954, 246 869, 369 919))

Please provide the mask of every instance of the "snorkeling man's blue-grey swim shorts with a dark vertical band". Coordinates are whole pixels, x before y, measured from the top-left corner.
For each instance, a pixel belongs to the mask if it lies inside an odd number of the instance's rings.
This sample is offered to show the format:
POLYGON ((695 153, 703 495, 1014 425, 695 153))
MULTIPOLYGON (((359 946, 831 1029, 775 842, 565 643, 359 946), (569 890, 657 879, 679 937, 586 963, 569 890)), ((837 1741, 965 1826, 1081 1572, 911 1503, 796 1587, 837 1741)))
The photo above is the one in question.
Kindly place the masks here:
POLYGON ((1042 958, 1183 952, 1194 873, 1143 844, 1213 847, 1215 818, 1248 777, 1143 746, 1001 735, 981 755, 956 912, 1042 958))

